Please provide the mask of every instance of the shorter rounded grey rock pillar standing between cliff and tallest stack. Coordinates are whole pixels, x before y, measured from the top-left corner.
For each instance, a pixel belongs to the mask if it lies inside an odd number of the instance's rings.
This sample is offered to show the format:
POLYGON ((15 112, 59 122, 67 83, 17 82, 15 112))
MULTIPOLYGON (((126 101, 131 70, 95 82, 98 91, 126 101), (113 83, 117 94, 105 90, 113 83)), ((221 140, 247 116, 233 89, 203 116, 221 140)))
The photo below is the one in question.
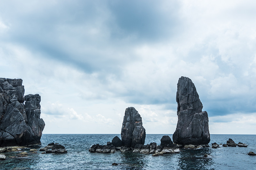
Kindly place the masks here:
POLYGON ((136 144, 145 143, 146 131, 142 126, 142 118, 134 107, 125 109, 121 138, 123 145, 126 147, 134 147, 136 144))

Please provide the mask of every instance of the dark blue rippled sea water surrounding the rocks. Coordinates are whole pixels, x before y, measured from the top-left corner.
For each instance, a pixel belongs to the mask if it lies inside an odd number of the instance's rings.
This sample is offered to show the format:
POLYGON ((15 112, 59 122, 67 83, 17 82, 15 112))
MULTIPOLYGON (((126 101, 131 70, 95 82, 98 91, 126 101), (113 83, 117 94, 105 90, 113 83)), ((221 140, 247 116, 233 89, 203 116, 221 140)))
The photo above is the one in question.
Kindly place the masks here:
MULTIPOLYGON (((163 135, 171 134, 147 134, 145 144, 156 142, 159 145, 163 135)), ((0 169, 15 170, 61 170, 61 169, 256 169, 256 156, 247 155, 252 151, 256 153, 256 135, 211 135, 211 143, 226 144, 228 138, 235 143, 242 142, 249 146, 244 147, 221 147, 218 149, 181 149, 177 154, 165 154, 152 157, 151 154, 140 153, 90 153, 88 149, 93 144, 106 144, 113 137, 120 134, 43 134, 42 146, 55 142, 65 146, 68 153, 64 154, 41 154, 41 152, 28 154, 28 157, 9 158, 17 153, 4 153, 6 159, 0 161, 0 169), (209 155, 204 158, 204 154, 209 155), (121 163, 112 166, 112 163, 121 163)), ((39 150, 39 147, 35 147, 39 150)), ((29 151, 29 149, 25 149, 29 151)))

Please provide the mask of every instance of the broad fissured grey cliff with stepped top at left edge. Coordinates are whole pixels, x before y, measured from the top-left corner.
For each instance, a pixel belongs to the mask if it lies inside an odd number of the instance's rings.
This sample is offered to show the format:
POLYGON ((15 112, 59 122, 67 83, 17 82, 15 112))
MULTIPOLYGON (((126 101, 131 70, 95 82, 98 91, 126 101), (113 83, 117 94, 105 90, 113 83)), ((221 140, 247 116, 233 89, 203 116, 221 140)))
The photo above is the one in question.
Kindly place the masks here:
POLYGON ((41 97, 24 92, 22 79, 0 78, 0 146, 41 143, 41 97))

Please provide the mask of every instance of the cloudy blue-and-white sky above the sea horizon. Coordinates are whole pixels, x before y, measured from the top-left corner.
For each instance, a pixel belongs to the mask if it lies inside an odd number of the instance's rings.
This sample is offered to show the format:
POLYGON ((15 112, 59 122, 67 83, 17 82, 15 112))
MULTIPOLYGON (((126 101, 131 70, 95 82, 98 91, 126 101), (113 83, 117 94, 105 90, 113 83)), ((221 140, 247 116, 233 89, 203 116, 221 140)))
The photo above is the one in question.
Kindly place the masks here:
POLYGON ((256 134, 256 1, 0 0, 0 77, 41 96, 44 134, 173 134, 177 83, 210 134, 256 134))

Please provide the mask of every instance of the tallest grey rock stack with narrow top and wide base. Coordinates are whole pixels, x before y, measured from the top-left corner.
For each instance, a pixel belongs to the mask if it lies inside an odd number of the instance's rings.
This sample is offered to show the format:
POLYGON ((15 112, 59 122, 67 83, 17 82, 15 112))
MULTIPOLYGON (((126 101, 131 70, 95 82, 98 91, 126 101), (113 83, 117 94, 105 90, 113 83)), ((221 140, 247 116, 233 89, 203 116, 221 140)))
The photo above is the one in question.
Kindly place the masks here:
POLYGON ((202 112, 203 105, 194 83, 190 78, 181 77, 177 87, 178 123, 172 135, 173 142, 182 145, 208 144, 208 114, 206 111, 202 112))

